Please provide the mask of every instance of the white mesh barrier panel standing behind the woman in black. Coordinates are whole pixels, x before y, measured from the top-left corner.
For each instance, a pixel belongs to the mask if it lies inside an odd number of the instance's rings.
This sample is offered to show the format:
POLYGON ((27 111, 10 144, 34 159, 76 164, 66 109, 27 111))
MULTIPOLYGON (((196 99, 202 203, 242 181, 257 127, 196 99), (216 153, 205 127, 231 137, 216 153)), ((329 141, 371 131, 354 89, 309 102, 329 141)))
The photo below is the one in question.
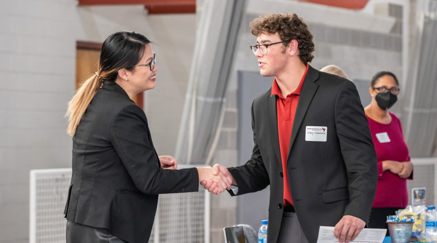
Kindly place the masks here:
MULTIPOLYGON (((65 243, 63 213, 70 180, 71 169, 30 172, 30 243, 65 243)), ((149 242, 209 242, 208 192, 199 187, 198 192, 160 195, 149 242)))

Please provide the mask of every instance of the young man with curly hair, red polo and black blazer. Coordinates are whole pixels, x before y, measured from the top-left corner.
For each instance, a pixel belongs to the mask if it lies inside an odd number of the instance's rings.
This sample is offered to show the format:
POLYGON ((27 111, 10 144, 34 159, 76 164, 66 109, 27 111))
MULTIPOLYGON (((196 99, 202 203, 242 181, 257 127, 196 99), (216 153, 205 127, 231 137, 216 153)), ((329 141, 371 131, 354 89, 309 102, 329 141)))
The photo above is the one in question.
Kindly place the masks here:
POLYGON ((295 14, 260 16, 250 27, 260 74, 275 79, 252 104, 249 161, 213 170, 232 178, 232 196, 270 185, 269 242, 315 243, 319 226, 335 226, 339 242, 351 241, 368 222, 377 182, 357 89, 308 64, 313 35, 295 14))

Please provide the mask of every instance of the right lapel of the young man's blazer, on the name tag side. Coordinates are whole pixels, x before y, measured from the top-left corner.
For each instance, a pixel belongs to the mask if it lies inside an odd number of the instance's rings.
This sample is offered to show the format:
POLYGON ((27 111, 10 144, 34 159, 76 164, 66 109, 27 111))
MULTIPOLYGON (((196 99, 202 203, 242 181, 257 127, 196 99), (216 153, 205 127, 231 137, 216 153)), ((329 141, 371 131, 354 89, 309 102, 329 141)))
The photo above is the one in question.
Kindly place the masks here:
POLYGON ((302 124, 303 118, 305 117, 305 114, 307 114, 308 107, 310 106, 313 96, 319 87, 319 85, 315 83, 317 79, 319 79, 319 71, 310 66, 307 72, 307 77, 305 77, 302 86, 302 91, 300 92, 296 114, 294 115, 293 128, 290 136, 290 147, 288 149, 288 158, 290 158, 291 148, 293 147, 294 139, 297 136, 297 132, 302 124))

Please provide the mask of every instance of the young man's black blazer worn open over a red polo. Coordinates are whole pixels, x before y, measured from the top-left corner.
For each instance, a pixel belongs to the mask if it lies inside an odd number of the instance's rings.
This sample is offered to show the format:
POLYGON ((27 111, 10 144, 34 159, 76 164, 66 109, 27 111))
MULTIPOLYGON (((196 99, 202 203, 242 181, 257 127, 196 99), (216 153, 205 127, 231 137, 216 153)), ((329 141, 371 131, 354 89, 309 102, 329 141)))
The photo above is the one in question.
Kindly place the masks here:
MULTIPOLYGON (((277 241, 283 214, 276 99, 270 89, 253 101, 252 156, 245 165, 229 168, 238 195, 270 185, 269 242, 277 241)), ((287 173, 296 214, 310 243, 317 241, 319 226, 335 226, 343 215, 368 222, 377 182, 376 153, 351 81, 309 67, 294 118, 287 173), (327 140, 305 141, 307 126, 326 126, 327 140)))

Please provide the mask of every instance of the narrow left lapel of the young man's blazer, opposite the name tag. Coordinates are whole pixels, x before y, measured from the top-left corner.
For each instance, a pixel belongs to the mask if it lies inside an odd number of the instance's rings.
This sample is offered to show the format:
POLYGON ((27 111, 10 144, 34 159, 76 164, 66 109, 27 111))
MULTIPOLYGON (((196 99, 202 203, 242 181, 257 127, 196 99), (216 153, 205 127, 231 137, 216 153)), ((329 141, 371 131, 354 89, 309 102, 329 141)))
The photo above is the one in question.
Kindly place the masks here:
POLYGON ((281 161, 281 151, 279 149, 279 135, 278 135, 278 114, 276 111, 276 99, 277 96, 270 96, 270 93, 266 97, 267 117, 269 118, 270 138, 272 139, 273 148, 275 149, 276 158, 279 163, 281 161))

